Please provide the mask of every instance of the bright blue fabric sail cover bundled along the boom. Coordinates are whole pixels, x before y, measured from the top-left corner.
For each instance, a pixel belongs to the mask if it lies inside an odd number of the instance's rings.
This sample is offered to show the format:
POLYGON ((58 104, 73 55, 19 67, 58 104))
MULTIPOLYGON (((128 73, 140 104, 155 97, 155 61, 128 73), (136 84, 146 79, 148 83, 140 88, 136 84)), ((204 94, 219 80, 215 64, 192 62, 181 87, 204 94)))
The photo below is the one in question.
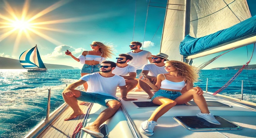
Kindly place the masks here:
POLYGON ((204 37, 194 38, 186 35, 179 46, 180 54, 190 56, 254 35, 256 35, 256 16, 204 37))

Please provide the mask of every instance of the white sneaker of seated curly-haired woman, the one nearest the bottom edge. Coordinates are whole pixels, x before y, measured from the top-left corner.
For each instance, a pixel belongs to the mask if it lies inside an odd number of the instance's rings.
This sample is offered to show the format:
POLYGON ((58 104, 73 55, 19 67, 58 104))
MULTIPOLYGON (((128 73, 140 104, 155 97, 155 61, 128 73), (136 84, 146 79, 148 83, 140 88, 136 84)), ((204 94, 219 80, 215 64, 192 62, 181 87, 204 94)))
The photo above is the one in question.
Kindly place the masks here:
POLYGON ((144 121, 141 123, 141 133, 147 136, 152 136, 154 134, 154 126, 156 126, 156 121, 144 121))

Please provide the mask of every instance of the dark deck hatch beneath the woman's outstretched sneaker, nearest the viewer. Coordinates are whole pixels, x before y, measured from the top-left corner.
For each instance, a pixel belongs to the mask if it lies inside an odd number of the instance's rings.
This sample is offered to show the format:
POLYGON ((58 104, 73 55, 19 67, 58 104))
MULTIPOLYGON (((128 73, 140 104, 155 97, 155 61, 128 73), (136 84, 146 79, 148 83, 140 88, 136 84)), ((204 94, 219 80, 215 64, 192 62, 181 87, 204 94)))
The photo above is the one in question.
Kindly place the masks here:
POLYGON ((220 131, 242 129, 239 125, 236 125, 220 116, 214 117, 221 123, 221 125, 209 123, 205 119, 197 116, 174 116, 173 118, 190 131, 220 131))

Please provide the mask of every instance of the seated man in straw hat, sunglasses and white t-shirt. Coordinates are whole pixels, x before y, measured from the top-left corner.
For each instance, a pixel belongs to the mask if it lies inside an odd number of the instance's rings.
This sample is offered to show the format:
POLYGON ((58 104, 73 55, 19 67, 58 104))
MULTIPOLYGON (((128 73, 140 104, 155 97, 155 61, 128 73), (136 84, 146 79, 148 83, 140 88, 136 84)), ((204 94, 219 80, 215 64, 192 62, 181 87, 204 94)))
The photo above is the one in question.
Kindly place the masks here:
MULTIPOLYGON (((168 55, 164 53, 151 55, 151 57, 152 63, 144 65, 141 73, 144 73, 144 75, 146 75, 146 77, 151 81, 152 84, 156 84, 156 77, 158 74, 168 73, 164 69, 164 62, 169 60, 167 59, 168 55)), ((153 97, 154 93, 152 93, 151 87, 147 83, 139 80, 139 86, 149 95, 148 99, 151 99, 153 97)))

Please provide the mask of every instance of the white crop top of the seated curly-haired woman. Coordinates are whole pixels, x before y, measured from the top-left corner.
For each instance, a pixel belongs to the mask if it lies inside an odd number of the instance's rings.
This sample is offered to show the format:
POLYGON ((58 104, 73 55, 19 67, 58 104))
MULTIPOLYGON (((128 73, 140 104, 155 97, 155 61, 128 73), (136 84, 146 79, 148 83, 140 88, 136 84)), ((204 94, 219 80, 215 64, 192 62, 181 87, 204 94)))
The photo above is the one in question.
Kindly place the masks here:
MULTIPOLYGON (((164 75, 164 74, 162 74, 164 75)), ((171 89, 171 90, 181 90, 186 85, 186 82, 184 80, 182 82, 172 82, 169 80, 166 80, 166 77, 164 75, 165 80, 162 80, 161 87, 163 89, 171 89)))

